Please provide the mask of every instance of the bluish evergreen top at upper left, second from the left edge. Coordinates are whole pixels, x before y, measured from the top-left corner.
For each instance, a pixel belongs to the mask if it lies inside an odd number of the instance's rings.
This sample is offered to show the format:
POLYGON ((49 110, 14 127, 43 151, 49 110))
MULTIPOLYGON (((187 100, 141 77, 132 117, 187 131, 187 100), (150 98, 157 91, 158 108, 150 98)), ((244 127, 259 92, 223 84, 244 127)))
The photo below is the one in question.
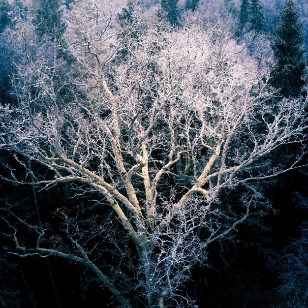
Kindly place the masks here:
POLYGON ((35 24, 39 35, 49 34, 52 39, 59 39, 64 30, 61 0, 38 0, 35 24))

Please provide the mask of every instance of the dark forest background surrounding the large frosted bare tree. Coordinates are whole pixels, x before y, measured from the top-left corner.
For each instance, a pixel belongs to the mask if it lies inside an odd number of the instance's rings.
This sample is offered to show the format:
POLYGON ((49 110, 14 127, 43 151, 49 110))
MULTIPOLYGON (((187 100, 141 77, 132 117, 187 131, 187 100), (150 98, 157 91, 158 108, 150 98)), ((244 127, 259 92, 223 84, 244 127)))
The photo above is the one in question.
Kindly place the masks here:
MULTIPOLYGON (((48 45, 48 41, 57 41, 59 48, 54 57, 63 59, 67 67, 75 65, 74 57, 67 52, 62 40, 63 33, 69 27, 66 24, 66 15, 69 14, 74 1, 33 2, 35 10, 31 13, 34 14, 31 16, 31 23, 35 29, 37 43, 43 46, 48 45)), ((300 97, 303 103, 306 103, 306 1, 135 2, 118 3, 117 22, 123 28, 127 24, 133 24, 132 16, 136 5, 142 5, 144 10, 155 15, 160 19, 161 25, 174 27, 178 31, 184 27, 183 20, 186 22, 189 18, 195 18, 194 14, 201 14, 207 22, 224 21, 230 27, 235 40, 246 42, 251 54, 258 54, 260 46, 265 46, 262 47, 263 54, 260 57, 263 57, 262 62, 267 69, 272 69, 271 86, 279 89, 275 99, 300 97), (285 53, 287 44, 292 50, 290 53, 285 53)), ((14 75, 14 63, 18 62, 23 51, 12 50, 10 46, 14 41, 9 41, 8 38, 14 39, 14 35, 10 36, 10 31, 14 31, 20 18, 29 18, 24 16, 27 12, 23 10, 25 1, 0 0, 0 104, 3 106, 12 102, 18 104, 11 79, 14 75)), ((44 48, 46 50, 47 47, 44 48)), ((122 57, 125 59, 124 53, 122 57)), ((277 165, 291 166, 294 158, 300 154, 301 147, 283 145, 273 152, 270 158, 277 165)), ((263 191, 271 207, 263 215, 248 218, 238 225, 231 239, 216 241, 208 246, 207 263, 191 270, 191 277, 185 282, 183 289, 183 294, 188 293, 193 297, 195 307, 308 307, 307 159, 305 154, 298 162, 298 165, 303 166, 301 168, 294 168, 260 182, 258 189, 263 191)), ((72 198, 73 185, 60 184, 40 189, 33 185, 17 184, 11 177, 10 170, 14 170, 15 179, 27 177, 27 169, 20 166, 20 161, 23 161, 20 154, 0 147, 2 208, 22 204, 21 215, 32 215, 33 219, 47 221, 51 228, 57 229, 60 228, 59 219, 57 220, 54 214, 57 209, 86 204, 87 207, 95 207, 94 193, 90 197, 81 193, 72 198)), ((24 163, 32 163, 32 168, 36 168, 38 174, 46 174, 48 177, 48 171, 34 161, 25 160, 24 163)), ((226 193, 222 202, 236 204, 243 193, 245 191, 241 189, 235 190, 231 196, 226 193)), ((3 213, 0 214, 2 217, 3 213)), ((108 217, 106 219, 108 220, 108 217)), ((4 233, 6 228, 3 224, 4 233)), ((23 241, 31 243, 27 233, 23 241)), ((118 304, 111 300, 109 290, 92 278, 82 265, 54 255, 42 258, 31 251, 31 255, 17 256, 14 245, 4 235, 0 235, 0 244, 1 307, 118 307, 118 304)), ((133 293, 134 290, 130 290, 132 296, 133 293)))

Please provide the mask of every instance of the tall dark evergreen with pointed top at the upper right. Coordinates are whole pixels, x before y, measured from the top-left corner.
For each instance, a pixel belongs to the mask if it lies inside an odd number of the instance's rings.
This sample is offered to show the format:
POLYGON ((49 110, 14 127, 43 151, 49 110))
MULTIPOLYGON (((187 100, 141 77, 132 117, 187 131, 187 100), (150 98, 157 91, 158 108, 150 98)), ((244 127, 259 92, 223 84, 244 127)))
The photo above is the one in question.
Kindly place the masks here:
POLYGON ((284 96, 298 96, 303 86, 306 66, 304 58, 304 30, 300 13, 293 0, 286 0, 280 13, 280 25, 274 28, 272 49, 275 72, 272 85, 284 96))

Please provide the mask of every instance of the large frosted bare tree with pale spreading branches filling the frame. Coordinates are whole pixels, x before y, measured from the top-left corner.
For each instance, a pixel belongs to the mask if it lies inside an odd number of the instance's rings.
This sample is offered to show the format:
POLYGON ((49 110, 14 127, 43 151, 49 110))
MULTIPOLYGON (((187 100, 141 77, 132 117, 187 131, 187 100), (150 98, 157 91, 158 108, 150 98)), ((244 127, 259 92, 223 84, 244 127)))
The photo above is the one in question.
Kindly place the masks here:
POLYGON ((76 1, 66 30, 75 62, 64 74, 55 53, 37 48, 30 57, 31 36, 18 27, 10 34, 25 56, 12 79, 17 103, 0 107, 0 148, 26 172, 21 180, 8 166, 7 180, 65 183, 96 209, 58 209, 62 229, 52 230, 8 206, 2 234, 14 253, 82 264, 121 307, 189 307, 183 285, 206 262, 207 246, 267 205, 254 182, 297 166, 300 156, 286 168, 269 157, 307 139, 305 104, 271 105, 275 92, 258 61, 215 27, 177 31, 137 9, 134 29, 122 30, 113 10, 76 1), (225 206, 221 194, 239 187, 241 202, 225 206))

